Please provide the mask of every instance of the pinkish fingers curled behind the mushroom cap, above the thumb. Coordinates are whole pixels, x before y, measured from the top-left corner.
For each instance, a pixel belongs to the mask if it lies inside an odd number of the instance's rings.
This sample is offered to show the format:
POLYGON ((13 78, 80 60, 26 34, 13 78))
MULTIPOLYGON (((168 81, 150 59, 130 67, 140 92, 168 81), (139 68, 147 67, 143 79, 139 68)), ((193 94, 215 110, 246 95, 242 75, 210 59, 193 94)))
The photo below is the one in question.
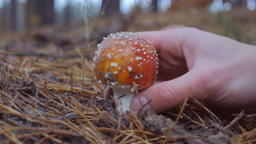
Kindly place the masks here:
POLYGON ((183 46, 190 31, 191 28, 181 28, 138 33, 149 39, 157 49, 159 59, 157 79, 159 81, 177 78, 188 71, 183 46))

